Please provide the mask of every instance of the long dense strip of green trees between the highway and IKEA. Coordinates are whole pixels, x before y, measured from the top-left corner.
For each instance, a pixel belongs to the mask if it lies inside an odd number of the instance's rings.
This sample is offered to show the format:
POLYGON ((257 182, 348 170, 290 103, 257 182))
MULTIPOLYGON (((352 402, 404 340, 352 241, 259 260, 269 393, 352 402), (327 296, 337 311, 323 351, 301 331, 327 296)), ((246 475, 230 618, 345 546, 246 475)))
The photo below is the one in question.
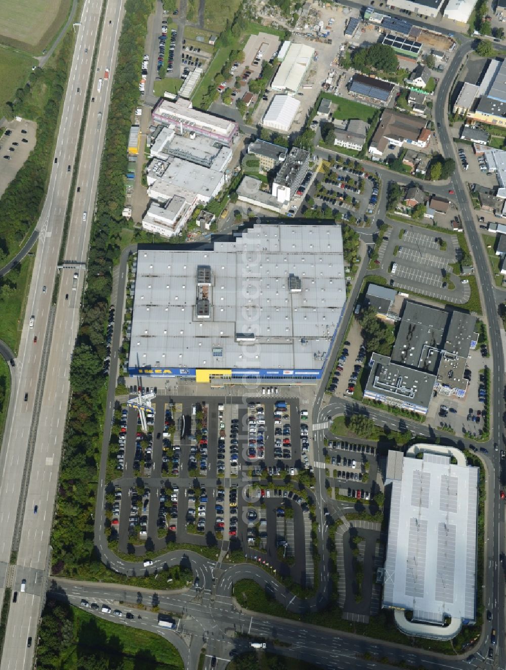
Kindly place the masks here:
POLYGON ((90 235, 87 286, 70 369, 72 399, 52 535, 54 574, 80 574, 96 559, 93 517, 102 442, 99 417, 106 388, 102 361, 112 268, 120 255, 121 230, 127 224, 122 216, 126 141, 131 111, 139 100, 137 74, 152 11, 153 0, 126 1, 90 235))

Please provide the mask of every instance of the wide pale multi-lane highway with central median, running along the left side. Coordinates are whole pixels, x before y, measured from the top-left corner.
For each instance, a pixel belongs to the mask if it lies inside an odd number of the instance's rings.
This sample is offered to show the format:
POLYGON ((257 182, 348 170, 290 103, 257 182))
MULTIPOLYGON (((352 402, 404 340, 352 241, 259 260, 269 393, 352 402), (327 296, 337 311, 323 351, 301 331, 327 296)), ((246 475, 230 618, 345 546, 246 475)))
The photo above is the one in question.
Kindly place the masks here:
POLYGON ((86 0, 81 25, 77 29, 48 194, 37 224, 39 242, 0 454, 3 481, 0 489, 3 529, 1 596, 3 598, 5 587, 18 592, 17 602, 11 602, 9 609, 2 670, 21 669, 33 664, 35 645, 27 647, 27 639, 29 636, 36 639, 46 589, 54 500, 70 391, 70 360, 79 325, 80 295, 105 137, 106 124, 99 123, 98 112, 106 119, 110 99, 110 86, 102 86, 102 93, 98 95, 96 81, 99 76, 103 77, 106 67, 111 70, 110 82, 114 76, 123 5, 122 2, 110 3, 106 9, 98 51, 100 72, 91 73, 100 11, 98 0, 86 0), (95 102, 90 103, 82 152, 76 157, 90 74, 95 102), (80 192, 74 198, 66 249, 66 257, 76 263, 75 267, 61 271, 58 300, 52 307, 64 217, 76 160, 79 160, 80 192), (86 220, 84 212, 87 212, 86 220), (79 273, 79 283, 77 290, 72 290, 75 271, 79 273), (34 316, 33 328, 29 326, 31 315, 34 316), (9 567, 11 552, 13 565, 9 567), (26 580, 25 592, 21 592, 21 580, 26 580))

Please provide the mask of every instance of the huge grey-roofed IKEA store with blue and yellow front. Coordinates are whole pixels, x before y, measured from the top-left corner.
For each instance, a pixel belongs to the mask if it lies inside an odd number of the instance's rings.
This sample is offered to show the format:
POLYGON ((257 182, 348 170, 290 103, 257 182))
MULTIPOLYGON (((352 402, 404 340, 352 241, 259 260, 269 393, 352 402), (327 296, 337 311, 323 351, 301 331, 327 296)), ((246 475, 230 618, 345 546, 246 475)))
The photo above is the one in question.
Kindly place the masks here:
POLYGON ((345 303, 333 224, 259 223, 199 249, 139 246, 129 373, 315 382, 345 303))

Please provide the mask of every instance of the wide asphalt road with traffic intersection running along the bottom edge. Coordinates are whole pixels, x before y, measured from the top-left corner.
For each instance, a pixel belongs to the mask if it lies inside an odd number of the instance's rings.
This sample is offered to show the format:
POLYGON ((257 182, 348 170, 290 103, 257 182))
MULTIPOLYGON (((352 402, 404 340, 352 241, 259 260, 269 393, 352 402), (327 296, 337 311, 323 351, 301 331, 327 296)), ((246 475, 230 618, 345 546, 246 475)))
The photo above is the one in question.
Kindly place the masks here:
MULTIPOLYGON (((262 570, 254 565, 242 565, 243 575, 238 578, 256 578, 266 586, 269 578, 264 578, 262 570)), ((78 606, 81 598, 88 602, 108 604, 112 609, 118 606, 122 612, 135 614, 131 624, 151 630, 168 639, 181 651, 181 640, 189 643, 189 650, 183 649, 185 667, 197 667, 201 643, 206 643, 206 653, 210 658, 216 655, 218 667, 226 667, 231 651, 246 651, 250 640, 266 641, 267 650, 297 659, 314 662, 317 660, 326 668, 353 669, 378 667, 371 659, 363 658, 365 651, 378 658, 387 657, 392 662, 408 661, 413 667, 432 670, 469 667, 461 658, 440 657, 430 652, 419 652, 411 647, 394 645, 383 641, 371 641, 362 636, 339 630, 323 628, 297 620, 281 619, 268 614, 256 614, 242 605, 248 606, 242 594, 232 597, 232 581, 229 572, 216 580, 212 590, 198 591, 190 588, 186 592, 171 594, 126 587, 116 584, 90 584, 72 580, 52 580, 49 595, 52 598, 68 600, 78 606), (161 612, 170 612, 177 621, 177 632, 160 630, 157 614, 143 610, 144 606, 159 606, 161 612), (141 619, 137 618, 141 612, 141 619), (193 649, 192 649, 193 647, 193 649), (196 651, 195 651, 196 650, 196 651)), ((102 616, 102 614, 97 614, 102 616)), ((109 620, 111 615, 104 615, 109 620)), ((126 619, 114 618, 116 622, 127 624, 126 619)), ((130 624, 130 622, 129 622, 130 624)), ((209 658, 207 665, 209 667, 209 658)), ((392 667, 381 664, 381 667, 392 667)), ((471 666, 473 667, 473 666, 471 666)))

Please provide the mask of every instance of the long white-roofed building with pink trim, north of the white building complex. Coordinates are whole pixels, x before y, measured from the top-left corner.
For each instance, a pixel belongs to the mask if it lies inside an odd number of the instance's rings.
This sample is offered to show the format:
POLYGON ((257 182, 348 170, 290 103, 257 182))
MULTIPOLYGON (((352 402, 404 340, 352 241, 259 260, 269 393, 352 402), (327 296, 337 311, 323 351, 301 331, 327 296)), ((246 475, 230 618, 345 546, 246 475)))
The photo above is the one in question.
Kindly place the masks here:
POLYGON ((232 146, 239 133, 239 124, 236 121, 193 109, 191 102, 183 98, 161 98, 153 107, 152 118, 155 123, 167 126, 172 124, 179 135, 193 132, 199 137, 209 137, 228 147, 232 146))

